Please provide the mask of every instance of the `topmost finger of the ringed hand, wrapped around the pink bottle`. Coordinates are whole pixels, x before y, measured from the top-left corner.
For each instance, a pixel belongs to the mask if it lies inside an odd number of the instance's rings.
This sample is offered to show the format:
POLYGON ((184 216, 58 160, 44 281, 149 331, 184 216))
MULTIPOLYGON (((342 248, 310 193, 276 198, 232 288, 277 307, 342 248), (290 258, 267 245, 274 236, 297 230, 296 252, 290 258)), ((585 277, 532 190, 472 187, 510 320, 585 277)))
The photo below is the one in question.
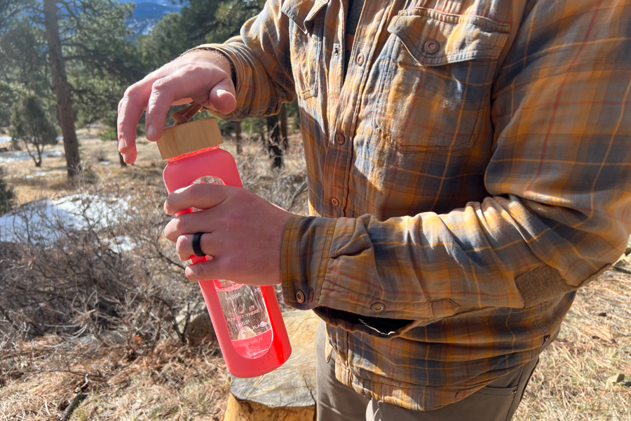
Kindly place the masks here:
POLYGON ((222 185, 190 185, 169 194, 164 202, 164 211, 167 215, 175 215, 180 210, 190 208, 213 208, 226 200, 231 194, 235 194, 237 190, 236 187, 222 185))

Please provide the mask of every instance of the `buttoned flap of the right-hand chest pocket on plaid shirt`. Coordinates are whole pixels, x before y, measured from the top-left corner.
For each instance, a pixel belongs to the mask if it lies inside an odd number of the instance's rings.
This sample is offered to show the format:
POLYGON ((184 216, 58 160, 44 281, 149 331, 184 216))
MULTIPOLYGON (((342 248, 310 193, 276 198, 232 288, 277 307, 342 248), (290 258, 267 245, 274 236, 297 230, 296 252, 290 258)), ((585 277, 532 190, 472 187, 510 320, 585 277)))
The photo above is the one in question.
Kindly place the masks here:
POLYGON ((509 30, 510 25, 482 16, 451 15, 427 8, 402 11, 388 25, 388 32, 398 36, 423 66, 497 58, 509 30))

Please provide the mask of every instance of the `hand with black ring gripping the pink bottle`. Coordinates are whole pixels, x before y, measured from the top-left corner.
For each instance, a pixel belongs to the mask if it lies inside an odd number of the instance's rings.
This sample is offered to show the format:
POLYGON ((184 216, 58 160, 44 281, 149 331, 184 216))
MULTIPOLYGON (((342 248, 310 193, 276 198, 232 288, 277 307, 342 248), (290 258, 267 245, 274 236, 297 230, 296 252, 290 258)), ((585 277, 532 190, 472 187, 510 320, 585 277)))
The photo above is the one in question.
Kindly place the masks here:
POLYGON ((176 216, 164 229, 181 260, 194 255, 193 234, 205 233, 201 249, 212 259, 187 267, 188 279, 230 279, 259 286, 280 283, 280 248, 291 213, 246 189, 221 185, 184 187, 169 194, 164 203, 169 215, 189 208, 204 210, 176 216))

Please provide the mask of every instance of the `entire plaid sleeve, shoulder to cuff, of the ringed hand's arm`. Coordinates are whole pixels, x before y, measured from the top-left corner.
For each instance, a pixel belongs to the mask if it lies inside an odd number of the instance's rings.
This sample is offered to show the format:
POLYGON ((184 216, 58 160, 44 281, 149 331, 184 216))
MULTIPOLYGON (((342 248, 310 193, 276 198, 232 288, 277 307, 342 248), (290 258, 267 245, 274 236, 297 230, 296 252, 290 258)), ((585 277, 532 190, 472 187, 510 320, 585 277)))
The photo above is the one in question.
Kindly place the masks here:
POLYGON ((631 229, 630 8, 547 10, 554 3, 524 15, 494 83, 490 196, 442 215, 292 218, 287 304, 397 335, 454 314, 532 307, 620 257, 631 229), (404 322, 372 322, 384 318, 404 322))

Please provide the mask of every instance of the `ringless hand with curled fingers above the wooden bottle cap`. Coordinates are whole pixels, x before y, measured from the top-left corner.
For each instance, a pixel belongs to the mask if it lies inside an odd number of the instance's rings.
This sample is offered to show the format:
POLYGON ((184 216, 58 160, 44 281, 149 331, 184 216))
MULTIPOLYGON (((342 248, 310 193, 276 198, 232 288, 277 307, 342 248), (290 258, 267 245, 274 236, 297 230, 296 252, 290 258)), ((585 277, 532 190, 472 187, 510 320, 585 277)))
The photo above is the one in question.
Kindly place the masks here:
POLYGON ((230 62, 214 51, 191 51, 127 88, 118 103, 118 151, 136 160, 136 126, 147 109, 147 139, 161 138, 171 105, 198 102, 227 114, 236 107, 230 62))

